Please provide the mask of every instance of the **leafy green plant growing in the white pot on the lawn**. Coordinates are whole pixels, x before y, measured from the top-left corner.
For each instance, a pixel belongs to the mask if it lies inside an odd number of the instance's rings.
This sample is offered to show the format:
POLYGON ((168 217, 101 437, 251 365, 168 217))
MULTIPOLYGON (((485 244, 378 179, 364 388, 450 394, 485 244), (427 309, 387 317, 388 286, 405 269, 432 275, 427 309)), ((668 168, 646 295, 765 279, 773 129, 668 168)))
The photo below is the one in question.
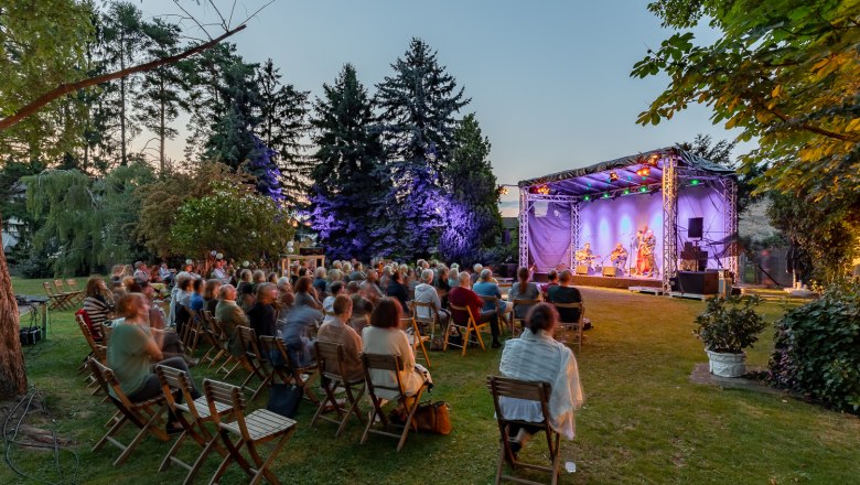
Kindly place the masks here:
POLYGON ((696 316, 694 333, 711 352, 740 354, 752 347, 767 326, 755 311, 761 302, 759 297, 712 298, 696 316))

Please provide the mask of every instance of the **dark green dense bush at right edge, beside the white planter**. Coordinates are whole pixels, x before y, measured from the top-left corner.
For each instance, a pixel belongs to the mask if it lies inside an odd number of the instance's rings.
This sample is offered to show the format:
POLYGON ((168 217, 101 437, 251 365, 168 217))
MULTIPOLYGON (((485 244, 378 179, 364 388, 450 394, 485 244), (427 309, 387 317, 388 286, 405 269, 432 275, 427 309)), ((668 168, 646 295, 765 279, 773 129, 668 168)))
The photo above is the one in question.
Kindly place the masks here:
POLYGON ((776 323, 773 382, 860 414, 860 284, 837 284, 776 323))

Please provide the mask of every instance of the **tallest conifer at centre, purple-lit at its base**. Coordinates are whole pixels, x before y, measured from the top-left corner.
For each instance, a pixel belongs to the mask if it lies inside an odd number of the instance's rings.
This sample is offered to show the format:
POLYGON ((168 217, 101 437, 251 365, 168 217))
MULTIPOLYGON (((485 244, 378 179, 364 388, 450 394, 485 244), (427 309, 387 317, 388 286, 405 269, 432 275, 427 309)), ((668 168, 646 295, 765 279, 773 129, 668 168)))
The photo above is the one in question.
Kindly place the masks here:
POLYGON ((381 128, 395 181, 388 207, 395 208, 401 256, 429 256, 442 226, 442 174, 450 162, 454 114, 469 104, 436 52, 412 39, 404 58, 377 85, 381 128))

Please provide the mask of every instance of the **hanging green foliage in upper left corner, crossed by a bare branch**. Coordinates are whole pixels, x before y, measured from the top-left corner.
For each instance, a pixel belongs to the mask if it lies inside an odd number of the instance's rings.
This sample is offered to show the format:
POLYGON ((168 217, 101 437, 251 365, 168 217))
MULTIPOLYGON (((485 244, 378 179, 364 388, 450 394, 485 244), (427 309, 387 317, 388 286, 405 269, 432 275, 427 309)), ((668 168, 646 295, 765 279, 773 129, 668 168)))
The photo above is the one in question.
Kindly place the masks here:
MULTIPOLYGON (((0 0, 0 119, 62 83, 85 77, 93 4, 77 0, 0 0)), ((76 146, 82 105, 57 99, 0 130, 0 153, 56 155, 76 146)))

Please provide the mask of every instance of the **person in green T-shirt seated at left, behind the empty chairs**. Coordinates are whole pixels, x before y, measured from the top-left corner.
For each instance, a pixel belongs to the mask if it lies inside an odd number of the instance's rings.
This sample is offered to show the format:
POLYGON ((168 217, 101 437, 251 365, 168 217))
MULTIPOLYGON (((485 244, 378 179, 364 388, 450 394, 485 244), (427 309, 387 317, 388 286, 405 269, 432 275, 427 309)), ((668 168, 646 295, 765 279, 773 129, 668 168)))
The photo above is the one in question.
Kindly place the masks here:
MULTIPOLYGON (((161 382, 152 369, 159 364, 189 371, 185 360, 180 357, 164 358, 162 348, 172 332, 153 331, 149 327, 149 305, 140 293, 128 293, 117 303, 117 311, 125 321, 116 325, 107 348, 107 365, 114 370, 120 389, 131 402, 144 401, 161 394, 161 382)), ((201 396, 192 391, 194 399, 201 396)), ((168 430, 181 431, 175 420, 168 423, 168 430)))

